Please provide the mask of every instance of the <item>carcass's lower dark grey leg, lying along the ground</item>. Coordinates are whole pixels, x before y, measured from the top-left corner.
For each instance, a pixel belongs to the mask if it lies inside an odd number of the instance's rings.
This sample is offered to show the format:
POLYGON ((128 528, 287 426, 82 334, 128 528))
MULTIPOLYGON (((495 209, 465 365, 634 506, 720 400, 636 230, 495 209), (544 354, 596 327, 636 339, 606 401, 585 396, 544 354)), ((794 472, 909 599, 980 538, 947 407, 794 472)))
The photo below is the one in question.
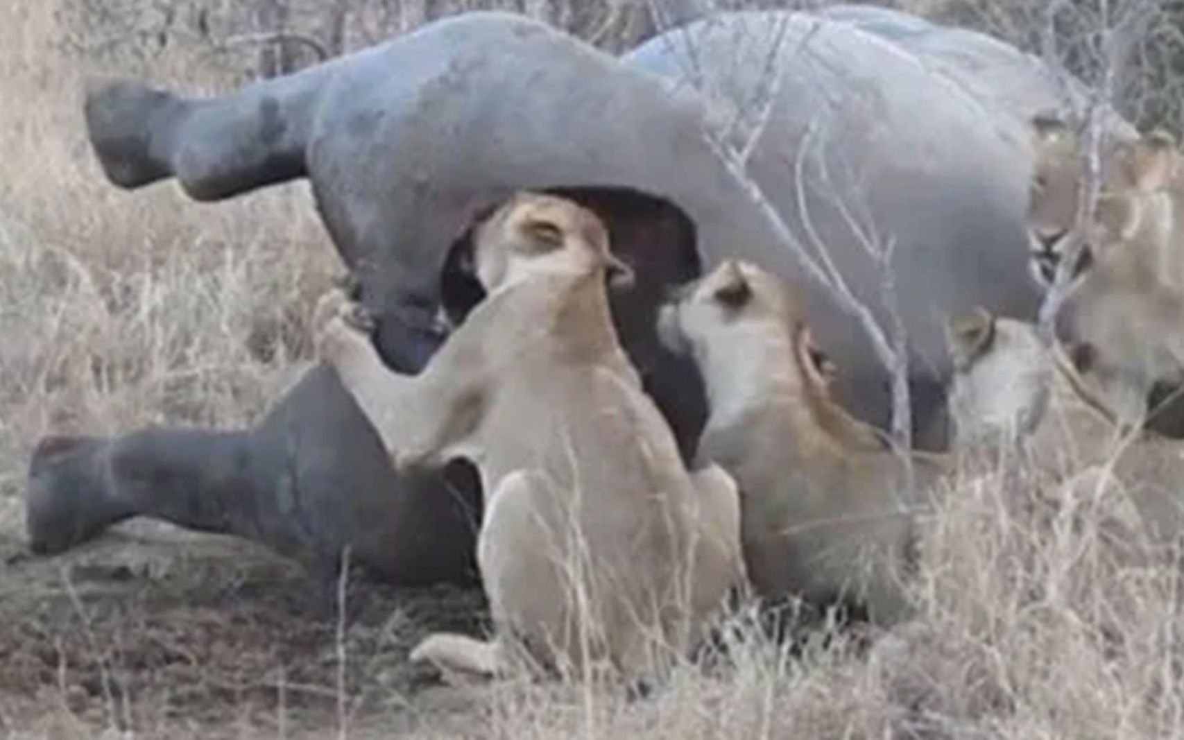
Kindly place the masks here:
POLYGON ((249 539, 314 567, 350 560, 400 584, 475 577, 475 472, 397 475, 335 374, 305 374, 258 427, 47 438, 30 464, 32 549, 65 551, 130 516, 249 539))

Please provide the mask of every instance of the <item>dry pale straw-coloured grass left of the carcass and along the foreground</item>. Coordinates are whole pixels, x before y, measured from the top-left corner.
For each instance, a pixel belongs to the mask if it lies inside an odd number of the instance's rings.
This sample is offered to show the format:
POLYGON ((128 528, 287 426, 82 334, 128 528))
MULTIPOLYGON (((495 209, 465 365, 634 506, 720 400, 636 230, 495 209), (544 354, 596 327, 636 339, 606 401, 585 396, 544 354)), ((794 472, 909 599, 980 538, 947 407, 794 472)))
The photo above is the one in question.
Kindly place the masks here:
MULTIPOLYGON (((680 665, 641 702, 579 681, 432 687, 406 649, 476 629, 472 593, 367 584, 339 639, 307 577, 218 538, 141 530, 7 560, 38 437, 249 423, 307 356, 336 268, 303 185, 205 206, 173 184, 110 187, 83 136, 81 65, 49 43, 56 9, 0 11, 0 732, 333 736, 343 652, 354 738, 1184 736, 1178 571, 1130 559, 1089 501, 1049 515, 998 476, 927 520, 915 620, 870 648, 817 631, 791 654, 741 613, 726 659, 680 665)), ((155 65, 234 81, 184 47, 155 65)))

